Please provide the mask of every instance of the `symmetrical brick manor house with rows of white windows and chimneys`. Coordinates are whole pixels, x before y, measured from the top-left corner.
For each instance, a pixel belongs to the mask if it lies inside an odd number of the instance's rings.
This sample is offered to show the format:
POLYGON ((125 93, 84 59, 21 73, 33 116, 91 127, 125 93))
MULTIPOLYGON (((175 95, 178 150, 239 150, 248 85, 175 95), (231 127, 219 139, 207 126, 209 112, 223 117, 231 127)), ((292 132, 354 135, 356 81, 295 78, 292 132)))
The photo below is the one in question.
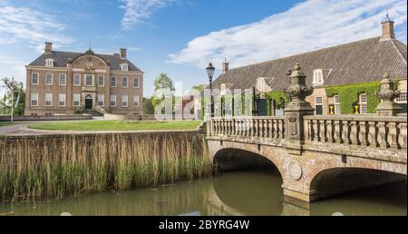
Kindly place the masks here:
POLYGON ((26 67, 25 115, 142 114, 143 72, 120 54, 53 51, 26 67))

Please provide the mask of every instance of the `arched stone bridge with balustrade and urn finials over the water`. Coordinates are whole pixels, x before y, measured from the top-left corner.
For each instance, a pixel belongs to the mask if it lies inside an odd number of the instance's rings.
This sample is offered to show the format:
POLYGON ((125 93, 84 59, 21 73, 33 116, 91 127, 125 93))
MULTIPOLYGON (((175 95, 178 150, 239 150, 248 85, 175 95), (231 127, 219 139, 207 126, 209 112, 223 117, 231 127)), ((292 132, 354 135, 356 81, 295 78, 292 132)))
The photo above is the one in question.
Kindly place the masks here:
POLYGON ((209 120, 209 152, 221 170, 260 166, 261 161, 250 159, 267 159, 282 176, 285 199, 306 204, 406 180, 407 119, 393 103, 398 93, 389 77, 382 82, 383 102, 374 115, 314 115, 305 101, 312 92, 305 80, 297 64, 283 117, 209 120))

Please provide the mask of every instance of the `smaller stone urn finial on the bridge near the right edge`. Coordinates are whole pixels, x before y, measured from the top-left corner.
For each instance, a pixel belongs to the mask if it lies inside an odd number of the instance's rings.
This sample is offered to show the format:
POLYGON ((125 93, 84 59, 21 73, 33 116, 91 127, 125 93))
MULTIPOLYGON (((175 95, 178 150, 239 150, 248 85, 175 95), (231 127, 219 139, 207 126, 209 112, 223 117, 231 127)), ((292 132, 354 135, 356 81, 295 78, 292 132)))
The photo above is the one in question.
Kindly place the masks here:
POLYGON ((402 108, 396 102, 395 98, 400 97, 400 92, 395 91, 393 87, 393 80, 389 73, 384 74, 384 79, 381 81, 380 93, 376 95, 381 99, 381 103, 377 107, 377 113, 380 116, 393 116, 401 112, 402 108))

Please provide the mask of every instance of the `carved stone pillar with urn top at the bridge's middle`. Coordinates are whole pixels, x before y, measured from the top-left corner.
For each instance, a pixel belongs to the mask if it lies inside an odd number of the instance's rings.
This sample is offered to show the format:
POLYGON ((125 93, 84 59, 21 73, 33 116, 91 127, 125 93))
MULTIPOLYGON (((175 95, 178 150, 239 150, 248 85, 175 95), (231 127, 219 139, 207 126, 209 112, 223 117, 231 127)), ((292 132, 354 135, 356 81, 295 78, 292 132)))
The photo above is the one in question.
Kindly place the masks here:
POLYGON ((313 88, 306 86, 306 74, 297 63, 289 77, 287 95, 291 101, 285 109, 286 147, 292 154, 301 155, 305 144, 304 116, 313 115, 315 109, 305 99, 313 93, 313 88))

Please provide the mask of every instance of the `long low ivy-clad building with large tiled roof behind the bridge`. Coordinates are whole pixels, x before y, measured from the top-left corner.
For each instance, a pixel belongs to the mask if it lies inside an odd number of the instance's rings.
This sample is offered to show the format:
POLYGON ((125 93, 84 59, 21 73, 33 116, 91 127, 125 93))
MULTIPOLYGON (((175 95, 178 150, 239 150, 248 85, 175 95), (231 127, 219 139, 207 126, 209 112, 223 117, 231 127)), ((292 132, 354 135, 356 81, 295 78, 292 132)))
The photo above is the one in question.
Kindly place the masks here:
MULTIPOLYGON (((380 82, 384 74, 388 73, 398 83, 398 90, 401 92, 400 98, 395 102, 400 103, 403 108, 402 112, 406 113, 406 57, 406 44, 395 39, 393 21, 387 15, 382 23, 382 35, 378 37, 235 69, 228 69, 226 62, 223 64, 223 73, 214 82, 214 87, 220 90, 221 95, 225 94, 227 89, 233 92, 235 89, 252 90, 253 87, 256 88, 257 93, 285 91, 289 84, 288 69, 300 63, 302 71, 307 75, 307 85, 314 87, 314 93, 308 96, 306 101, 316 109, 316 114, 345 114, 342 112, 340 101, 350 97, 345 94, 343 94, 344 97, 338 94, 329 96, 326 93, 327 88, 380 82)), ((358 97, 354 97, 354 100, 358 102, 347 106, 349 112, 346 114, 370 113, 368 108, 370 95, 368 94, 373 93, 356 94, 358 97), (356 106, 358 106, 358 112, 355 112, 356 106)), ((271 105, 270 109, 274 108, 273 104, 267 102, 261 95, 261 98, 256 101, 257 115, 283 114, 282 107, 277 106, 275 108, 279 110, 267 112, 268 104, 271 105)), ((200 112, 199 106, 200 103, 196 102, 198 113, 200 112)), ((239 108, 239 106, 231 108, 231 106, 216 105, 216 116, 222 113, 230 115, 231 112, 234 115, 241 115, 239 108), (231 109, 235 110, 231 111, 231 109)))

